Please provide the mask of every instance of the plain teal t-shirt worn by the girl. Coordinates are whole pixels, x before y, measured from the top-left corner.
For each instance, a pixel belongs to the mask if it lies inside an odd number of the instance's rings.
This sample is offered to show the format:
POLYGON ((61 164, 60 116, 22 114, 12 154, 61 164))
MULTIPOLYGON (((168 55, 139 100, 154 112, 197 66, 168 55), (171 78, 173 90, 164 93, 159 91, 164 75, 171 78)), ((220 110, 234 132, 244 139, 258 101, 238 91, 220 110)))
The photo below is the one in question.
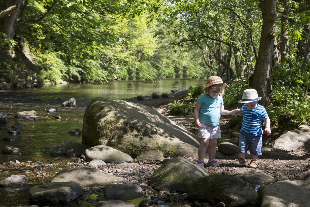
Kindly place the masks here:
POLYGON ((208 94, 202 94, 197 99, 201 104, 199 121, 210 126, 219 125, 221 117, 221 105, 224 100, 221 96, 212 98, 208 94))

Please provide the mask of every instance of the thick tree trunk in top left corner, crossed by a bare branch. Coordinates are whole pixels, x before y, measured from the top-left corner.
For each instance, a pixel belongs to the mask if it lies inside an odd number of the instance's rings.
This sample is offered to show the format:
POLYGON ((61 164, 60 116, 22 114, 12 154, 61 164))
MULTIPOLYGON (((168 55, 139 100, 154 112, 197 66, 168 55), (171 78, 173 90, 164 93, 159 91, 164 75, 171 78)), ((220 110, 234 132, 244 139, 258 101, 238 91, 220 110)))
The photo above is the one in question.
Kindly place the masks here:
POLYGON ((5 0, 4 1, 4 7, 5 9, 17 5, 18 8, 11 12, 11 14, 8 14, 4 17, 3 26, 2 26, 2 32, 6 34, 8 37, 13 38, 15 36, 14 32, 14 25, 15 20, 19 13, 20 4, 23 0, 5 0))

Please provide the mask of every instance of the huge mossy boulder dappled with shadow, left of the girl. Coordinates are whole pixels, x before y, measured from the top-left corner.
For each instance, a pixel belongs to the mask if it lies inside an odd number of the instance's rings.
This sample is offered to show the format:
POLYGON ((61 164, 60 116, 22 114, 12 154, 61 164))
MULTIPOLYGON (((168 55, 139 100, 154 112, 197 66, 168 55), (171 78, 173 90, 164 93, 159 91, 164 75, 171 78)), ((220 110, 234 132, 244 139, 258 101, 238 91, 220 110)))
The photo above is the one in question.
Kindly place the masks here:
POLYGON ((97 97, 84 113, 82 144, 110 146, 132 157, 149 150, 193 157, 199 137, 149 106, 97 97))

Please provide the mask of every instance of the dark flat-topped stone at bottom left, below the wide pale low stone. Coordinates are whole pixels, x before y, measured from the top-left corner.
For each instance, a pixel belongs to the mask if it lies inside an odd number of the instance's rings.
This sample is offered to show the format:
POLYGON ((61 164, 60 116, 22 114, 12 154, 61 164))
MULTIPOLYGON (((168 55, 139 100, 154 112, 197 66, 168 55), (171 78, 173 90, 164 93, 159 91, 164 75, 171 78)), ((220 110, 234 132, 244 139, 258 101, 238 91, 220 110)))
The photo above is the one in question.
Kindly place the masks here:
POLYGON ((83 196, 81 186, 73 182, 50 182, 29 190, 30 199, 41 205, 69 205, 83 196))

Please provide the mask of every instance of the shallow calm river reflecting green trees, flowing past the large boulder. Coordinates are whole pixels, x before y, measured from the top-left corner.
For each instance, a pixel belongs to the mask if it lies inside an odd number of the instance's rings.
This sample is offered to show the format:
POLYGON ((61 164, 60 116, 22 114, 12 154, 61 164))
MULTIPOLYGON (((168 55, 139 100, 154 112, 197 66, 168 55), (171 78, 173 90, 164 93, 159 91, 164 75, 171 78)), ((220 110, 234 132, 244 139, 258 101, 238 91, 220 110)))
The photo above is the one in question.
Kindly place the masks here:
MULTIPOLYGON (((0 91, 0 112, 7 114, 7 123, 0 124, 0 151, 6 145, 11 145, 23 151, 20 156, 0 154, 0 164, 9 161, 15 162, 40 162, 43 163, 67 163, 69 159, 57 159, 51 157, 52 148, 64 141, 74 140, 79 143, 82 136, 72 136, 68 132, 71 129, 83 128, 84 111, 95 97, 106 97, 113 100, 136 97, 138 95, 150 95, 153 92, 162 94, 170 93, 171 89, 189 88, 189 86, 204 86, 204 80, 186 79, 161 79, 155 83, 143 83, 136 81, 111 81, 106 84, 66 84, 44 85, 39 88, 23 90, 0 91), (61 107, 61 104, 74 97, 77 107, 61 107), (48 113, 47 110, 58 107, 56 113, 48 113), (37 120, 15 119, 18 111, 35 110, 37 120), (55 119, 60 116, 61 119, 55 119), (19 134, 9 134, 12 128, 19 134), (3 138, 14 140, 5 141, 3 138)), ((57 169, 59 169, 59 166, 57 169)), ((65 166, 63 166, 65 167, 65 166)), ((0 182, 12 174, 25 174, 30 169, 25 167, 5 169, 0 174, 0 182), (16 172, 17 171, 17 172, 16 172)), ((34 171, 33 169, 31 169, 34 171)), ((55 173, 52 169, 48 172, 55 173)), ((29 204, 28 190, 43 182, 49 182, 52 177, 44 179, 29 178, 28 189, 0 188, 0 206, 18 206, 29 204)), ((82 206, 91 206, 85 204, 82 206)))

